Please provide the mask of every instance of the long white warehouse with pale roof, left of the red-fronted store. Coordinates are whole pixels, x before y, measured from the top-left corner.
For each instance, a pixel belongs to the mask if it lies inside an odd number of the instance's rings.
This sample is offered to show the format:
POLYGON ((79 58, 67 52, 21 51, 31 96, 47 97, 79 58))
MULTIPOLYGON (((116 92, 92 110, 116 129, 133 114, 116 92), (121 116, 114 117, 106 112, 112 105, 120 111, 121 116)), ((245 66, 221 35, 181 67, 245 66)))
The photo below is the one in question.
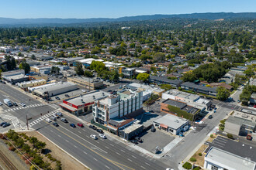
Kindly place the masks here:
POLYGON ((56 96, 57 94, 78 89, 77 85, 71 82, 58 82, 52 83, 50 86, 49 84, 46 85, 39 86, 36 90, 33 90, 33 94, 48 100, 49 97, 56 96))

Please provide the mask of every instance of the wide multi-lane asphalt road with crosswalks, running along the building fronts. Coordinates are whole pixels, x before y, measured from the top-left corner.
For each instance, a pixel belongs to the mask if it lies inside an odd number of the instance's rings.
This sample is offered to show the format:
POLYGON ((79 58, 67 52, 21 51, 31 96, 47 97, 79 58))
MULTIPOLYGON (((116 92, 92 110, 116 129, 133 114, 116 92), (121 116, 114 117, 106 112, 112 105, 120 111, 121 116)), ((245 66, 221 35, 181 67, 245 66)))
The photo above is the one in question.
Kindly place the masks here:
MULTIPOLYGON (((7 84, 0 84, 0 100, 2 101, 4 98, 9 98, 17 104, 24 102, 26 106, 41 104, 39 100, 29 97, 26 93, 13 89, 7 84)), ((47 114, 48 111, 51 112, 56 110, 50 105, 24 108, 19 106, 17 108, 20 109, 16 110, 14 110, 14 108, 16 107, 7 107, 3 104, 2 112, 4 110, 12 109, 11 111, 4 113, 17 117, 22 124, 22 127, 26 125, 26 115, 29 117, 35 117, 40 116, 40 113, 47 114)), ((71 117, 65 117, 70 123, 78 123, 78 121, 71 117)), ((38 117, 31 121, 35 121, 37 118, 38 117)), ((89 136, 90 134, 98 135, 98 133, 88 128, 88 126, 85 126, 85 128, 71 128, 69 125, 70 123, 64 124, 60 120, 57 120, 57 123, 60 124, 59 127, 54 127, 46 121, 39 121, 34 124, 32 128, 49 138, 50 141, 53 141, 56 145, 64 149, 64 151, 67 151, 70 155, 77 158, 78 161, 87 165, 89 168, 165 169, 170 167, 165 165, 163 162, 131 149, 114 138, 108 137, 108 139, 105 140, 99 138, 99 140, 95 141, 89 136)))

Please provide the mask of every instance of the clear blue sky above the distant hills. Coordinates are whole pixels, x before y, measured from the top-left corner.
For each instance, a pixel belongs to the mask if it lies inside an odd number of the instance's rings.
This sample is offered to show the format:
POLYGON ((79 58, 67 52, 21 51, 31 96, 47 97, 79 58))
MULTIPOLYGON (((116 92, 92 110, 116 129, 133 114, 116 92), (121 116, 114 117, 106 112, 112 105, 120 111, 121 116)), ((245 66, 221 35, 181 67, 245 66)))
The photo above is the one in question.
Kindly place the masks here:
POLYGON ((256 12, 256 0, 0 0, 0 5, 0 17, 15 19, 256 12))

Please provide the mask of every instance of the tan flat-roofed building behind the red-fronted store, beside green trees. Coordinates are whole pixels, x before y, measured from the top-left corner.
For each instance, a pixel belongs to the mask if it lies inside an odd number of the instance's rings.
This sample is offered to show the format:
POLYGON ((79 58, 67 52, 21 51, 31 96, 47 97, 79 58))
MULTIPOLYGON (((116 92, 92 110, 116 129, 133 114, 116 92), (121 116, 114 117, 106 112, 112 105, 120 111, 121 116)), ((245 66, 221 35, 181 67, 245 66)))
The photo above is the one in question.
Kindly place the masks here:
POLYGON ((67 77, 67 81, 91 90, 99 89, 104 85, 102 80, 94 80, 85 76, 70 76, 67 77))

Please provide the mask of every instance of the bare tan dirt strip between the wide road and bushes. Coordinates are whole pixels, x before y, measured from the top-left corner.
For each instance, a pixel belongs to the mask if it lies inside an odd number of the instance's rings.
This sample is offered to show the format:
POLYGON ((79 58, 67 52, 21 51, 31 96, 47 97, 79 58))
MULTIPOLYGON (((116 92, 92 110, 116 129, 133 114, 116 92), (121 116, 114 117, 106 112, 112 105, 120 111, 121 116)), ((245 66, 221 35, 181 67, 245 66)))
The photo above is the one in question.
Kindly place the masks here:
POLYGON ((47 144, 48 149, 50 149, 50 154, 53 155, 54 158, 61 161, 62 169, 70 170, 70 169, 88 169, 85 166, 81 165, 79 162, 71 158, 71 156, 67 155, 64 151, 60 148, 57 148, 56 145, 51 143, 44 138, 41 134, 37 133, 36 131, 26 132, 26 135, 36 137, 39 141, 43 141, 47 144))

